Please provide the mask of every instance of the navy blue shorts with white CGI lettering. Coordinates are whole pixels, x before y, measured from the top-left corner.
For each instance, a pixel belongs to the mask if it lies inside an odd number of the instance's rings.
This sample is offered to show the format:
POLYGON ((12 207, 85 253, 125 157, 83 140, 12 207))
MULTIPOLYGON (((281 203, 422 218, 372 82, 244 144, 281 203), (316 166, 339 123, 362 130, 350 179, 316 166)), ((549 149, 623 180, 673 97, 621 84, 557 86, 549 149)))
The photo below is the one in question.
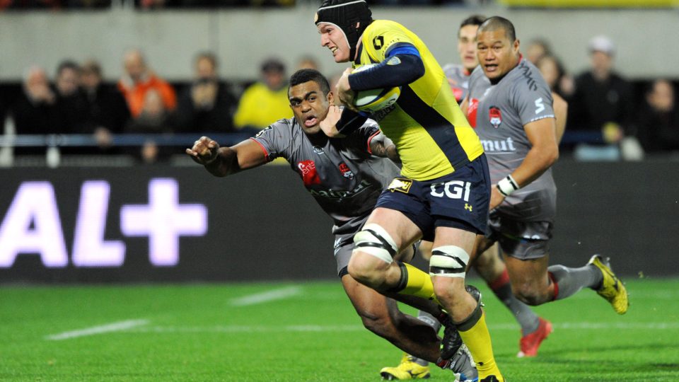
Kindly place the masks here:
POLYGON ((490 204, 490 175, 486 156, 476 158, 454 173, 432 180, 394 178, 376 207, 402 212, 422 231, 422 239, 434 240, 436 227, 486 233, 490 204))

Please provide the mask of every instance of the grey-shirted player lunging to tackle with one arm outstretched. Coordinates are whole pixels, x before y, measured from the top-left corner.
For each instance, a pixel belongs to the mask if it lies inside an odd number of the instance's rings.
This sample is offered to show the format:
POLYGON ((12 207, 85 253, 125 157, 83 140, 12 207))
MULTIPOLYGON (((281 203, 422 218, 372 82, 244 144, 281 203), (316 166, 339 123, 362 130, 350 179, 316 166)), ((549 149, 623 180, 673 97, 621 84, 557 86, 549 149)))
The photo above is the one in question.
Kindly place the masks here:
MULTIPOLYGON (((354 233, 362 228, 383 188, 399 173, 385 158, 397 158, 394 145, 371 120, 346 138, 326 137, 319 124, 328 115, 333 94, 318 71, 303 69, 293 74, 288 94, 294 118, 279 120, 232 147, 220 148, 216 141, 202 137, 186 150, 187 154, 216 176, 286 158, 306 190, 335 222, 332 232, 337 272, 365 327, 406 352, 436 361, 440 340, 431 325, 401 313, 395 301, 359 284, 347 273, 354 233)), ((410 260, 412 255, 412 250, 405 250, 397 257, 410 260)), ((441 320, 447 316, 432 301, 395 297, 441 320)), ((473 368, 469 362, 468 367, 473 368)))

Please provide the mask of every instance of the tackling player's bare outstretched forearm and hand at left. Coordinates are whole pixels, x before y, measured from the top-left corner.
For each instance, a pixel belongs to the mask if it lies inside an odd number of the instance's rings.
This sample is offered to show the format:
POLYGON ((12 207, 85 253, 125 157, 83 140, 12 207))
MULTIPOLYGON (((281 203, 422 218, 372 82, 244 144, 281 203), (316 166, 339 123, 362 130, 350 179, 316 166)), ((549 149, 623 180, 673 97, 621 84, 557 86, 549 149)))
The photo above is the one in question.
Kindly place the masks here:
POLYGON ((264 152, 252 139, 236 146, 219 147, 214 139, 201 137, 191 149, 186 149, 186 154, 196 163, 202 164, 209 173, 219 177, 267 163, 264 152))

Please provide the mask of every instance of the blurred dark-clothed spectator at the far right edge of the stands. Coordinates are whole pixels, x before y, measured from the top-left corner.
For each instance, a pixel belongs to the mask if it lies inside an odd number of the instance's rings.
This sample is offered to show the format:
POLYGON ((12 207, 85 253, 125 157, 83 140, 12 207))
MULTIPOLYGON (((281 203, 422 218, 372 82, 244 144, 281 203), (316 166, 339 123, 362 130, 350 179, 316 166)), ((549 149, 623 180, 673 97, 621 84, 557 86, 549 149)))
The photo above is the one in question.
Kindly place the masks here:
POLYGON ((666 79, 651 83, 637 128, 644 149, 651 153, 679 151, 679 111, 673 84, 666 79))

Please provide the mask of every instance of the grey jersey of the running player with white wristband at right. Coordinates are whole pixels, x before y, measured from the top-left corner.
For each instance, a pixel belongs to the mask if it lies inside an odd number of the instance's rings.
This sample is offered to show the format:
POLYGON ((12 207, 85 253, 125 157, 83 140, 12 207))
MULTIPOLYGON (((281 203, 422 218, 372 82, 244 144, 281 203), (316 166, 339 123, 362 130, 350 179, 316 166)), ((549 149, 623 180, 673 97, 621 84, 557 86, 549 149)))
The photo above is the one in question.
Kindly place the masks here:
MULTIPOLYGON (((492 85, 478 66, 470 76, 468 119, 475 127, 496 184, 516 170, 531 148, 524 125, 554 118, 552 92, 540 71, 521 59, 492 85)), ((505 199, 497 211, 519 221, 554 221, 557 187, 549 168, 505 199)))

